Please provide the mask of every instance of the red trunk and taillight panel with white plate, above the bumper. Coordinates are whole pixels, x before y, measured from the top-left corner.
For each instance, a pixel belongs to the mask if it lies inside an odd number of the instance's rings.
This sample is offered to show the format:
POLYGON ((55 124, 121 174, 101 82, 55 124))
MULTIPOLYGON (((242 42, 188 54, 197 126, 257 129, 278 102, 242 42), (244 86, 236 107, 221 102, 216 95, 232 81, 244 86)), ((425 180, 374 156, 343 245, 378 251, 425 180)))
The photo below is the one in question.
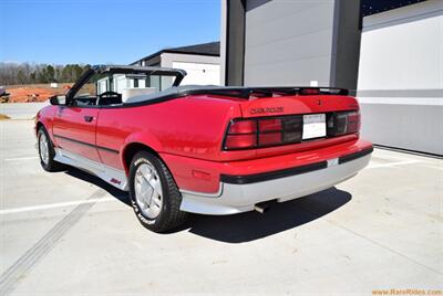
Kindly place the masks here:
POLYGON ((358 138, 359 105, 341 91, 253 91, 239 106, 243 117, 230 123, 225 150, 256 149, 257 155, 268 156, 358 138))

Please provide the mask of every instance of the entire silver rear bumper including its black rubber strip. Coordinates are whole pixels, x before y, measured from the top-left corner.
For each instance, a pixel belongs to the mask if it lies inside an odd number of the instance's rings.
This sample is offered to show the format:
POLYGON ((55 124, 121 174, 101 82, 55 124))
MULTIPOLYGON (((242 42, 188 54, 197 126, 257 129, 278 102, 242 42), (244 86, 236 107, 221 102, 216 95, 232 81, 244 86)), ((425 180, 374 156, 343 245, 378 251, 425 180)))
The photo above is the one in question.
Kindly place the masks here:
POLYGON ((284 202, 340 183, 363 169, 372 147, 358 152, 290 169, 220 178, 219 191, 199 193, 181 190, 181 210, 202 214, 235 214, 254 210, 259 202, 284 202))

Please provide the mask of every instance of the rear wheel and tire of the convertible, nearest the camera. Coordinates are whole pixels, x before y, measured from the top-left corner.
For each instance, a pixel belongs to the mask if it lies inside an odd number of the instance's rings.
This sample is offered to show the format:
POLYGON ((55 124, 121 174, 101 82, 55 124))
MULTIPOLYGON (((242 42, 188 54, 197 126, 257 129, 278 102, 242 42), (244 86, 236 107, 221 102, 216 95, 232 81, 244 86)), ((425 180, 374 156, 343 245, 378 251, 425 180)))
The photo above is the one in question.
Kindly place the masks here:
POLYGON ((182 194, 165 163, 156 156, 137 152, 130 167, 130 197, 138 221, 162 233, 182 225, 187 213, 179 210, 182 194))

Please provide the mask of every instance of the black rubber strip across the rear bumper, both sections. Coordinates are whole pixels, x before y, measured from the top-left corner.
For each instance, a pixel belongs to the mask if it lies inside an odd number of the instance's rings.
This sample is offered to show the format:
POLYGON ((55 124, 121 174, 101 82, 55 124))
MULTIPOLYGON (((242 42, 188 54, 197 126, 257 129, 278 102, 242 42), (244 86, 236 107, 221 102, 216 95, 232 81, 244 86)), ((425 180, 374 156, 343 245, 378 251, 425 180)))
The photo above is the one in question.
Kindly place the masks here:
MULTIPOLYGON (((350 154, 347 156, 342 156, 339 158, 339 163, 344 163, 360 157, 367 156, 373 151, 373 148, 364 149, 354 154, 350 154)), ((244 175, 244 176, 231 176, 231 175, 222 175, 220 181, 224 183, 230 184, 250 184, 256 182, 269 181, 274 179, 291 177, 296 175, 301 175, 306 172, 311 172, 316 170, 326 169, 328 167, 328 161, 320 161, 315 162, 301 167, 277 170, 277 171, 269 171, 262 173, 255 173, 255 175, 244 175)))

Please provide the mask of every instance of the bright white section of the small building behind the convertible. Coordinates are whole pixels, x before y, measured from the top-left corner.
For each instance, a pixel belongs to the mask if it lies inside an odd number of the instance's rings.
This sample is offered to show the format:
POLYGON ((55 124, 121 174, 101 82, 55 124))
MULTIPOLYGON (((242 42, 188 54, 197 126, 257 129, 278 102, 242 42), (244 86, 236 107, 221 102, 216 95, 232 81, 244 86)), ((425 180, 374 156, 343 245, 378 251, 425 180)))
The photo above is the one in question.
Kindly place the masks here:
POLYGON ((181 85, 220 85, 220 65, 173 62, 173 67, 187 72, 181 85))

